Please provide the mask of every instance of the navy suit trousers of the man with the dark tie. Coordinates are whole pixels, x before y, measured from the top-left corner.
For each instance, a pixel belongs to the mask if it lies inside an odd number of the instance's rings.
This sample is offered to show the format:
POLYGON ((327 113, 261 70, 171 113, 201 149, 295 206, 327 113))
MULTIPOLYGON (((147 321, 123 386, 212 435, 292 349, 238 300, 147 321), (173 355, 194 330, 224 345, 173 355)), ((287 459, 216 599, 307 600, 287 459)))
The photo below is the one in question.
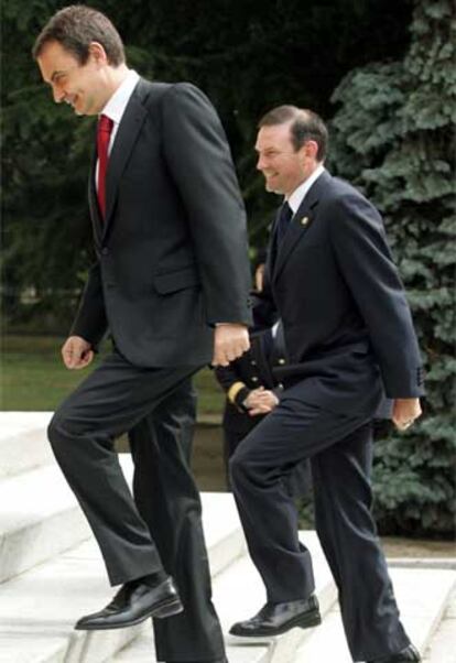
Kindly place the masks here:
POLYGON ((370 511, 371 456, 366 416, 305 403, 296 385, 284 392, 231 459, 249 552, 271 602, 307 598, 314 590, 311 555, 300 545, 296 511, 282 481, 296 463, 311 459, 315 526, 338 588, 355 661, 409 644, 370 511))

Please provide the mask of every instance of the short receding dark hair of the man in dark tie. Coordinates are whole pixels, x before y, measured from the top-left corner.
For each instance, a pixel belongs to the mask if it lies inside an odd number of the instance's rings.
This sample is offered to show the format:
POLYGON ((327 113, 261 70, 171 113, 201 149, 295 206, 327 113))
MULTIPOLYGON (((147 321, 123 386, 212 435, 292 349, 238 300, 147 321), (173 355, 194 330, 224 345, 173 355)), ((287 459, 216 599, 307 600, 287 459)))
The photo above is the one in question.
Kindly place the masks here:
POLYGON ((274 127, 287 122, 291 122, 290 138, 295 152, 306 141, 313 140, 318 145, 317 160, 324 161, 328 148, 328 130, 322 118, 313 110, 297 108, 297 106, 278 106, 261 118, 258 128, 274 127))

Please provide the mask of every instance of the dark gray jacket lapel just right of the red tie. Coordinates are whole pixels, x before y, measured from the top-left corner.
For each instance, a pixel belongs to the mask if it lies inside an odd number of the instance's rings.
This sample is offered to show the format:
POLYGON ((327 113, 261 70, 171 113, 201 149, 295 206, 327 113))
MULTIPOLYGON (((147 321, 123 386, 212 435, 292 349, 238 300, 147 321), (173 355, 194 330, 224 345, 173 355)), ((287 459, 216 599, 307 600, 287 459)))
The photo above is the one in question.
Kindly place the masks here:
POLYGON ((131 95, 131 98, 127 105, 116 134, 111 153, 109 155, 109 165, 106 176, 106 219, 102 222, 104 235, 106 235, 112 216, 120 177, 146 117, 146 110, 141 104, 140 83, 134 88, 133 94, 131 95))

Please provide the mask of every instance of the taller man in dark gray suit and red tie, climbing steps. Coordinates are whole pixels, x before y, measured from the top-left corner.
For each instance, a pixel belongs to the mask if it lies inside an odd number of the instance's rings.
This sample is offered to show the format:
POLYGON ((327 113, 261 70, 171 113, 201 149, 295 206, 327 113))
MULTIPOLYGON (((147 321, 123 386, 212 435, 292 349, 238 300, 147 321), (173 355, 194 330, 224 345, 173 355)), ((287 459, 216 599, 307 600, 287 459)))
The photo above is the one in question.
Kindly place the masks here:
POLYGON ((109 579, 122 587, 76 628, 154 617, 160 661, 219 663, 187 455, 192 374, 249 346, 245 210, 227 140, 196 87, 149 83, 129 69, 118 32, 98 11, 61 10, 33 54, 56 102, 99 116, 89 176, 97 261, 62 352, 67 368, 80 369, 107 332, 115 349, 59 406, 48 436, 109 579), (112 446, 130 430, 135 501, 112 446))

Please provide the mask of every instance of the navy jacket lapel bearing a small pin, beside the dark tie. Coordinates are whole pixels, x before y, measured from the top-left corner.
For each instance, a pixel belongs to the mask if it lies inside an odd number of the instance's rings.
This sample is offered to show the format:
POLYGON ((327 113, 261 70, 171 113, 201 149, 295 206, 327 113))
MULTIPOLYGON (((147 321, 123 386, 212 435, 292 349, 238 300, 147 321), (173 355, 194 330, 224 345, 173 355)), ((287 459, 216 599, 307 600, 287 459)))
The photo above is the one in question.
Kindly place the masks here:
MULTIPOLYGON (((322 196, 326 184, 329 182, 330 175, 328 172, 322 173, 318 180, 311 186, 304 200, 301 203, 296 214, 291 220, 290 228, 283 238, 281 246, 276 252, 276 259, 273 271, 273 280, 275 281, 286 264, 287 258, 297 242, 308 231, 312 224, 315 222, 316 210, 315 207, 318 205, 318 200, 322 196)), ((274 237, 274 241, 276 238, 274 237)))

